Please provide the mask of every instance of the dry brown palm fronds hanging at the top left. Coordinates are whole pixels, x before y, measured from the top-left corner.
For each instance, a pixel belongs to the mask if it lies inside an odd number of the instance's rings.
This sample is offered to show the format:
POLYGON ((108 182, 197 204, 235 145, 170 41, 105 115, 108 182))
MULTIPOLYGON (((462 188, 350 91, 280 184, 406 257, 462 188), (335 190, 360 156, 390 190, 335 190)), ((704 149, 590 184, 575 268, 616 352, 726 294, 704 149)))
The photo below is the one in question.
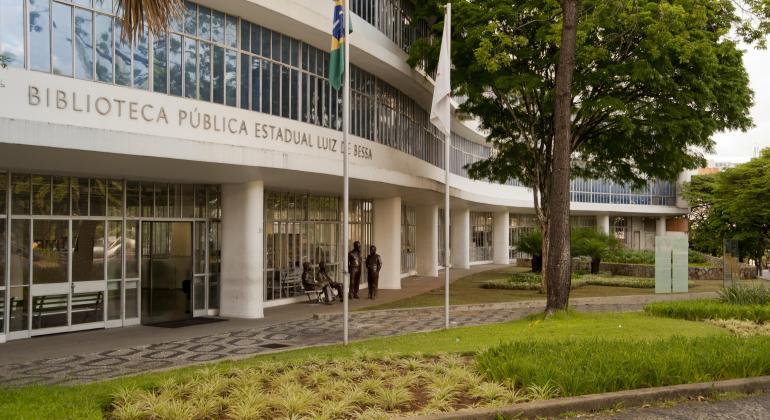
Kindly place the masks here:
POLYGON ((169 22, 182 14, 182 0, 118 0, 123 16, 123 36, 137 39, 146 27, 153 35, 166 31, 169 22))

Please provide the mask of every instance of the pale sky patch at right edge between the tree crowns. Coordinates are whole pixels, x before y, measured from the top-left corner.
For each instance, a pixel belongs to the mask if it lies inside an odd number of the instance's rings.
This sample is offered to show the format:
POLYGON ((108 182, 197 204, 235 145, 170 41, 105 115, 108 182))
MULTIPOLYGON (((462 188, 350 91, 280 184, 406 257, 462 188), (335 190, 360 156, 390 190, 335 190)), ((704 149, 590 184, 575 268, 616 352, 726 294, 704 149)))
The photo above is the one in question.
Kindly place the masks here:
POLYGON ((770 49, 745 48, 743 62, 754 91, 751 116, 754 128, 747 132, 725 132, 714 136, 715 153, 708 158, 717 162, 742 163, 754 157, 756 148, 770 147, 770 49))

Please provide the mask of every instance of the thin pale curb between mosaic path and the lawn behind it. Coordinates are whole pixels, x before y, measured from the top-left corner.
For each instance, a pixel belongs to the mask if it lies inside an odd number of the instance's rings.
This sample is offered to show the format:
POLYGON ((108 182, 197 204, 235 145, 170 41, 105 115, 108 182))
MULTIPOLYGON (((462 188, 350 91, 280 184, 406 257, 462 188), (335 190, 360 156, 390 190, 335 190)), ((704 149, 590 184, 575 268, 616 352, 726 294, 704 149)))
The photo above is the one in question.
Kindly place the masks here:
MULTIPOLYGON (((603 305, 646 305, 652 302, 668 302, 678 300, 694 300, 694 299, 713 299, 717 297, 716 292, 699 292, 699 293, 681 293, 681 294, 666 294, 666 295, 628 295, 628 296, 615 296, 612 300, 606 298, 576 298, 570 300, 570 308, 577 309, 580 307, 589 306, 603 306, 603 305)), ((522 300, 518 302, 499 302, 499 303, 475 303, 468 305, 452 305, 449 307, 450 311, 489 311, 489 310, 508 310, 508 309, 541 309, 545 308, 545 299, 542 300, 522 300)), ((398 308, 398 309, 379 309, 379 310, 358 310, 352 311, 351 316, 368 314, 393 314, 393 313, 424 313, 430 311, 443 311, 443 306, 423 306, 418 308, 398 308)), ((329 319, 342 316, 342 313, 330 312, 330 313, 314 313, 313 319, 329 319)))

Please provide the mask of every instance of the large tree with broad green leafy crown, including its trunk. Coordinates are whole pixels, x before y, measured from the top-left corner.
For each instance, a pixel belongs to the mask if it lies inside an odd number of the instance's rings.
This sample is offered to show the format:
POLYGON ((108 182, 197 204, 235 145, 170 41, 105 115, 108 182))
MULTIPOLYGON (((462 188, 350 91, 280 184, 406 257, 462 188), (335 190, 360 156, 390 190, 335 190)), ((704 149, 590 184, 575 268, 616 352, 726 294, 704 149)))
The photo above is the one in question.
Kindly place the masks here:
MULTIPOLYGON (((440 0, 420 3, 421 17, 440 16, 440 0)), ((460 112, 480 121, 496 150, 471 165, 471 174, 498 182, 515 179, 532 189, 547 289, 558 289, 556 308, 566 306, 569 294, 569 282, 549 275, 547 264, 558 261, 566 266, 559 271, 569 270, 563 244, 555 245, 564 255, 547 257, 554 252, 548 240, 554 173, 562 187, 565 179, 563 166, 556 166, 564 164, 564 153, 557 159, 556 150, 565 138, 568 178, 641 187, 649 179, 675 180, 682 170, 701 166, 714 133, 752 125, 753 93, 743 53, 730 34, 757 40, 762 28, 741 20, 732 1, 583 0, 574 17, 579 25, 569 136, 562 134, 559 142, 554 118, 563 99, 558 95, 564 95, 556 84, 566 7, 557 0, 453 0, 453 8, 452 80, 464 100, 460 112)), ((436 34, 441 26, 434 25, 436 34)), ((411 63, 431 70, 439 39, 416 42, 411 63)), ((562 110, 561 121, 564 115, 562 110)), ((567 212, 557 211, 559 236, 566 239, 567 212)))

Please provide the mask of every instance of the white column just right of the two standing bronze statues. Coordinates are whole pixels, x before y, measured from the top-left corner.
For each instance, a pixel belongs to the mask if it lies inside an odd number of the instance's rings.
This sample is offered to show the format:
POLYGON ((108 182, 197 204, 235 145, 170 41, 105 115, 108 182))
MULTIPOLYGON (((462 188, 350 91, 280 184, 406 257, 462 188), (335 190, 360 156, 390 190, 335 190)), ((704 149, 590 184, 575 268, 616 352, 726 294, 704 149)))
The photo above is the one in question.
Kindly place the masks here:
MULTIPOLYGON (((374 245, 382 258, 380 289, 401 288, 401 197, 374 200, 374 245)), ((419 225, 419 223, 418 223, 419 225)), ((369 250, 366 250, 366 255, 369 250)))

